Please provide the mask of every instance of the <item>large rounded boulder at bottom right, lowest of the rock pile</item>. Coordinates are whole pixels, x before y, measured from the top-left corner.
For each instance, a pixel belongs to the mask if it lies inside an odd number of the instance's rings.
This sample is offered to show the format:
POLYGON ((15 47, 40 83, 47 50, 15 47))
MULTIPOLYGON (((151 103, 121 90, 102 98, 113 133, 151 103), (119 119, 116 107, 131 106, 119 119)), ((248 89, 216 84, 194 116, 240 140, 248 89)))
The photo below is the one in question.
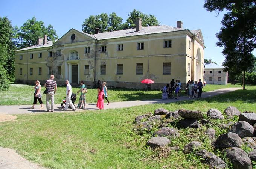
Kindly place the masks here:
POLYGON ((226 153, 226 157, 229 158, 234 169, 252 169, 250 157, 241 148, 226 148, 222 152, 226 153))

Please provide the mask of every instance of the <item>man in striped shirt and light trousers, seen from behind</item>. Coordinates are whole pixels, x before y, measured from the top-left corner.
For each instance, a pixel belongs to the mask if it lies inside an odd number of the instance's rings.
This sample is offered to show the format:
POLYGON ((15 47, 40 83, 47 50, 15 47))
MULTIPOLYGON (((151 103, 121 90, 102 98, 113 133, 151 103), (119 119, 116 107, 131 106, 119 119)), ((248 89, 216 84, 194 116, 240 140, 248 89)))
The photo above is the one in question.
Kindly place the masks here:
POLYGON ((44 84, 45 88, 49 89, 49 92, 46 94, 46 109, 47 112, 50 112, 50 105, 49 105, 49 101, 51 99, 51 105, 52 105, 52 111, 54 111, 54 95, 56 93, 57 90, 57 83, 56 81, 54 81, 54 75, 50 76, 50 79, 46 80, 45 84, 44 84))

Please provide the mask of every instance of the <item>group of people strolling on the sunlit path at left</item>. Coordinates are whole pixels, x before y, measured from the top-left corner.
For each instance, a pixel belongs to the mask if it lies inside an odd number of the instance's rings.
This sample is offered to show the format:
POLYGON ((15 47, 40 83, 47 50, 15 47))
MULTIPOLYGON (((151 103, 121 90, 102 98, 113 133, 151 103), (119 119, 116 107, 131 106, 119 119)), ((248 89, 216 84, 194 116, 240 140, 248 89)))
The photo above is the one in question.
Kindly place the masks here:
MULTIPOLYGON (((86 86, 84 84, 84 81, 80 81, 81 89, 76 92, 78 94, 80 92, 80 98, 78 101, 78 106, 75 107, 75 105, 72 103, 72 86, 69 83, 69 80, 66 80, 66 105, 65 108, 62 109, 64 111, 68 110, 68 107, 70 106, 73 111, 76 110, 76 108, 79 109, 85 109, 86 105, 86 95, 85 92, 82 92, 83 90, 86 89, 86 86)), ((44 87, 46 87, 46 91, 44 93, 46 94, 46 110, 47 112, 53 112, 54 111, 54 95, 56 94, 57 91, 57 83, 54 81, 54 75, 50 76, 50 79, 46 80, 46 83, 44 84, 44 87), (51 101, 51 109, 50 109, 50 104, 49 101, 51 101), (51 111, 50 111, 51 110, 51 111)), ((42 101, 42 94, 41 94, 41 85, 40 81, 37 80, 35 81, 35 86, 34 86, 35 92, 34 92, 34 101, 33 101, 33 106, 30 109, 34 109, 35 105, 37 104, 37 100, 39 101, 41 107, 40 109, 43 109, 43 101, 42 101)), ((87 89, 86 89, 87 90, 87 89)), ((108 105, 110 104, 108 101, 108 91, 107 91, 107 86, 106 82, 103 82, 101 80, 98 80, 97 82, 97 90, 98 90, 98 95, 97 95, 97 107, 98 109, 104 109, 104 100, 106 99, 108 102, 108 105)))

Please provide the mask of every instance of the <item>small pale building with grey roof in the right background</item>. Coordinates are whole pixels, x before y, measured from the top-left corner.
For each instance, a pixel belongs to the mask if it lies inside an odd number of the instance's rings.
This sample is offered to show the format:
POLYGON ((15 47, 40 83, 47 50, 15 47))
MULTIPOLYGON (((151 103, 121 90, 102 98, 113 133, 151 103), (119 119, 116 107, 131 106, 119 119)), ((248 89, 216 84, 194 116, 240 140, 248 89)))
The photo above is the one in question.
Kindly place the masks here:
POLYGON ((227 84, 227 72, 224 72, 224 66, 212 63, 204 63, 204 81, 206 84, 227 84))

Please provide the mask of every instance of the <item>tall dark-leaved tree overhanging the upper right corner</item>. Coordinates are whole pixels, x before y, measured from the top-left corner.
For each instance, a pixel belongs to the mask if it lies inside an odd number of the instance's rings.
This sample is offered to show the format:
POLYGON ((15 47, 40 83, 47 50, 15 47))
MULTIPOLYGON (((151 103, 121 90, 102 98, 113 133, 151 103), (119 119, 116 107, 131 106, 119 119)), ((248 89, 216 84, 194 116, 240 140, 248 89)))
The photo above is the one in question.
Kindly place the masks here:
MULTIPOLYGON (((256 4, 252 0, 205 0, 207 11, 228 11, 221 21, 217 46, 223 47, 224 71, 241 74, 253 69, 255 60, 251 52, 256 48, 256 4)), ((245 80, 243 80, 245 89, 245 80)))

